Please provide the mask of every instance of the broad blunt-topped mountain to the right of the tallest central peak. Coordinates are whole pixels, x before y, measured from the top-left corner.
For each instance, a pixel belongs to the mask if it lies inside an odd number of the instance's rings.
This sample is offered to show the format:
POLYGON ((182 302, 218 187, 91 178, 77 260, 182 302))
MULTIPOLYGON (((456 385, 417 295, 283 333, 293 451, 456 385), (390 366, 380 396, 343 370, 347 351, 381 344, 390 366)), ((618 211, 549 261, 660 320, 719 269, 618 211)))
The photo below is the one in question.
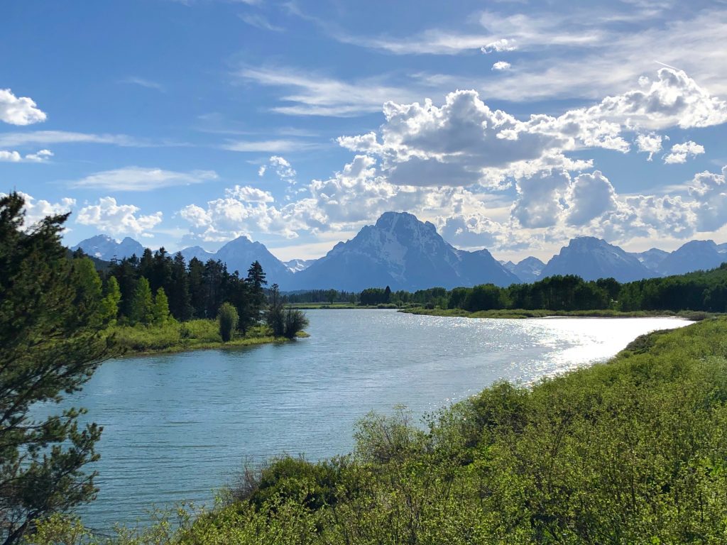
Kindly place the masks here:
POLYGON ((540 273, 541 278, 554 275, 578 275, 584 280, 616 278, 619 282, 659 276, 634 255, 595 237, 574 238, 563 246, 540 273))

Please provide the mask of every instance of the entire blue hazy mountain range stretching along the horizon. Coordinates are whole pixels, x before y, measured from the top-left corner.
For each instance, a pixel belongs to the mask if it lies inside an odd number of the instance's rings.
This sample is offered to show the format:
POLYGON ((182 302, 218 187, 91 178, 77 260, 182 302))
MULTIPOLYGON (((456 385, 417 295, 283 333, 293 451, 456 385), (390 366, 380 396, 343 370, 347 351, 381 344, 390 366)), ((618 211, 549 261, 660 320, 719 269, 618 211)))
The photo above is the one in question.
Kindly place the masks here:
MULTIPOLYGON (((107 261, 140 256, 144 251, 144 246, 132 238, 116 241, 107 235, 88 238, 72 250, 79 248, 107 261)), ((366 225, 350 241, 337 243, 320 259, 281 262, 264 244, 246 237, 238 237, 214 252, 191 246, 181 253, 187 261, 193 257, 201 261, 220 259, 229 270, 238 270, 241 275, 246 275, 250 264, 257 260, 268 282, 278 283, 283 290, 361 291, 390 286, 393 290, 415 291, 482 283, 508 286, 564 274, 586 280, 611 277, 619 282, 678 275, 727 262, 727 243, 690 241, 672 252, 652 248, 632 253, 600 238, 578 237, 547 264, 536 257, 518 263, 498 262, 485 249, 454 248, 430 222, 421 222, 406 212, 386 212, 374 225, 366 225)))

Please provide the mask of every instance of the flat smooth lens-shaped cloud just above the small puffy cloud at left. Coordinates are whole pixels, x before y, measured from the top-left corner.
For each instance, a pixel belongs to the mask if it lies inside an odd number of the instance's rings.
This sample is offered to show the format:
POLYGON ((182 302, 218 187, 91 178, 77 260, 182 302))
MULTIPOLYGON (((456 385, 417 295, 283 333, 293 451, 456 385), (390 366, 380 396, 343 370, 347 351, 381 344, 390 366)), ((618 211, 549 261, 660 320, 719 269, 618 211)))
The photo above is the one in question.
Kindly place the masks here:
POLYGON ((123 169, 106 170, 71 182, 71 187, 87 187, 115 191, 150 191, 160 187, 190 185, 217 179, 212 170, 176 172, 163 169, 146 169, 126 166, 123 169))

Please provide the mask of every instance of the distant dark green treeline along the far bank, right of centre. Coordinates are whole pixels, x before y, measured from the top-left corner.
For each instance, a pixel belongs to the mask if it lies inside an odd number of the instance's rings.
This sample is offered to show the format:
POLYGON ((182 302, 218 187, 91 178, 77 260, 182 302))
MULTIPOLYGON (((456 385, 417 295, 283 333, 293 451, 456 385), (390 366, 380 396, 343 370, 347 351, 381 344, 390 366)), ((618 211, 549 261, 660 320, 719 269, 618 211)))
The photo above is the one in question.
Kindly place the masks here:
POLYGON ((619 283, 613 278, 583 280, 564 275, 507 288, 483 284, 451 290, 430 288, 414 293, 369 288, 361 292, 360 300, 361 304, 393 303, 469 312, 502 309, 727 312, 727 263, 714 270, 629 283, 619 283))

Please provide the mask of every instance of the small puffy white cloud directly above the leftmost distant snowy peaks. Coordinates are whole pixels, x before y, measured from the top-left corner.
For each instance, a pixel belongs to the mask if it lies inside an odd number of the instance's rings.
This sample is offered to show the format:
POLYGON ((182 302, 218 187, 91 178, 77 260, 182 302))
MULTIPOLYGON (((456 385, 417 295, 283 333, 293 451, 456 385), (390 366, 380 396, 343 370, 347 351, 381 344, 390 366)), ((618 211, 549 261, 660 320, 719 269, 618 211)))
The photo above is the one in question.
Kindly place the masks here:
POLYGON ((161 212, 141 215, 138 206, 117 204, 113 197, 102 197, 95 204, 84 206, 76 217, 81 225, 93 225, 100 231, 120 235, 145 235, 161 223, 161 212))

